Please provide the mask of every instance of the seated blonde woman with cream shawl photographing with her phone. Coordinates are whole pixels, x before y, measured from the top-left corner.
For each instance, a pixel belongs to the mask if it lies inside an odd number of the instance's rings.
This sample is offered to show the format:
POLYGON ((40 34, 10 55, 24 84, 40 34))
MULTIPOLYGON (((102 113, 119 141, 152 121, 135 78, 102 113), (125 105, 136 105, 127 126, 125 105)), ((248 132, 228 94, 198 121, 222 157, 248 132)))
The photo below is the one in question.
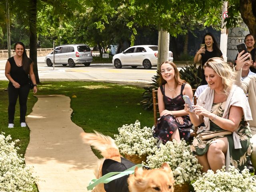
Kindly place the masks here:
POLYGON ((252 134, 248 121, 252 115, 243 90, 234 85, 235 73, 222 58, 210 58, 204 65, 204 74, 209 85, 198 98, 198 105, 189 112, 185 111, 195 126, 203 120, 205 126, 198 129, 198 135, 192 143, 192 152, 198 156, 203 172, 214 172, 229 165, 243 170, 248 165, 252 152, 250 138, 252 134), (232 134, 216 136, 202 140, 204 132, 228 130, 232 134))

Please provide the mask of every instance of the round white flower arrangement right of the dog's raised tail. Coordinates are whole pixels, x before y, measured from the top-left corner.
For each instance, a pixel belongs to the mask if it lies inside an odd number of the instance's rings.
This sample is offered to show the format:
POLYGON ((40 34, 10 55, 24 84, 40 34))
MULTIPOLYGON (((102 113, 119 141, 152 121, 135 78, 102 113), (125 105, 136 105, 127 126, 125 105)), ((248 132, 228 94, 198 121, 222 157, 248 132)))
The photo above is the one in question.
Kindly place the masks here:
POLYGON ((153 137, 151 128, 140 128, 138 120, 134 124, 123 125, 118 131, 119 134, 114 137, 121 154, 141 157, 153 154, 157 150, 157 139, 153 137))

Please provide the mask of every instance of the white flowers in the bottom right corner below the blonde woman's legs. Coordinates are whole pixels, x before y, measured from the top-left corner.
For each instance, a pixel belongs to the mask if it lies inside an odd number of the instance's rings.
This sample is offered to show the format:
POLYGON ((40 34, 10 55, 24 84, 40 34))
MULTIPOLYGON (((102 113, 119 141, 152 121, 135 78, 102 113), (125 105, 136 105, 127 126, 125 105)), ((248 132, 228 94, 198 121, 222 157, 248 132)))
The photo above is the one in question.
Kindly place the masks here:
POLYGON ((256 176, 251 176, 247 168, 239 172, 234 166, 229 166, 226 172, 223 166, 216 174, 208 170, 192 185, 196 192, 255 192, 256 176))

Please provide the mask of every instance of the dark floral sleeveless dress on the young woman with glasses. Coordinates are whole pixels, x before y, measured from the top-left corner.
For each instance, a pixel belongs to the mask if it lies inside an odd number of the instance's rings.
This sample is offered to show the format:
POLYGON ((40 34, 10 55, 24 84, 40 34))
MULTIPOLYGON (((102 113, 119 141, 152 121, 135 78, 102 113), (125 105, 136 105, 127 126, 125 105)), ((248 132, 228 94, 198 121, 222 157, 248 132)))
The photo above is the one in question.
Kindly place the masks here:
MULTIPOLYGON (((182 84, 180 94, 175 98, 169 98, 168 96, 166 96, 164 93, 164 85, 160 86, 160 90, 164 96, 163 99, 166 110, 178 111, 184 109, 185 102, 182 98, 182 92, 184 90, 185 84, 186 83, 182 84)), ((182 118, 184 121, 183 125, 179 124, 174 116, 171 115, 162 116, 161 118, 159 118, 156 128, 154 129, 154 137, 159 138, 160 140, 162 140, 163 144, 166 144, 166 142, 170 140, 173 132, 178 129, 180 133, 180 139, 183 138, 184 140, 188 141, 190 137, 190 129, 192 128, 192 123, 188 115, 182 116, 182 118)))

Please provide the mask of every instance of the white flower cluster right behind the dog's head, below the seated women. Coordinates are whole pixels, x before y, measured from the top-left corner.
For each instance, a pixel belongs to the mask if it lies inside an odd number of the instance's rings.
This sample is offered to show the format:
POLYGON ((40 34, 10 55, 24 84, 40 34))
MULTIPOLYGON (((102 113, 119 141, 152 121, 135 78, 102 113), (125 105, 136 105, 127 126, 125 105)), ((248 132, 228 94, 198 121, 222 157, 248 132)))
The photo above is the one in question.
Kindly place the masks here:
POLYGON ((195 181, 202 176, 202 166, 198 164, 197 158, 192 154, 190 145, 184 140, 180 143, 176 140, 168 141, 165 145, 160 144, 160 149, 155 154, 147 157, 147 166, 160 168, 166 162, 172 169, 175 184, 181 185, 195 181))

